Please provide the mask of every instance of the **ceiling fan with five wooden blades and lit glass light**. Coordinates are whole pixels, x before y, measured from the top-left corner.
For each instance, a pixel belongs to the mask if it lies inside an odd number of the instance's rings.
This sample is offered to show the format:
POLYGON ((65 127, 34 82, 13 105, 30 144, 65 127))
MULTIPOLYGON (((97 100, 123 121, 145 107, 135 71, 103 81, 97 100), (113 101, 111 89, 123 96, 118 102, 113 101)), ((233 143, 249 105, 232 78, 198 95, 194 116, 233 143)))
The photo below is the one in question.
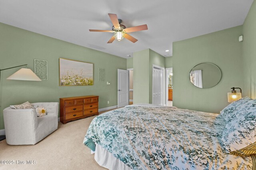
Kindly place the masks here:
POLYGON ((143 30, 148 29, 147 24, 139 25, 139 26, 136 26, 136 27, 126 28, 125 25, 120 24, 120 23, 122 23, 122 20, 118 19, 116 14, 108 14, 108 16, 110 17, 110 20, 113 23, 112 30, 89 29, 89 31, 93 31, 93 32, 114 33, 114 35, 110 38, 108 43, 112 43, 115 39, 117 41, 121 41, 124 38, 126 38, 126 39, 132 41, 133 43, 135 43, 136 41, 138 41, 138 39, 132 37, 128 33, 136 32, 136 31, 143 31, 143 30))

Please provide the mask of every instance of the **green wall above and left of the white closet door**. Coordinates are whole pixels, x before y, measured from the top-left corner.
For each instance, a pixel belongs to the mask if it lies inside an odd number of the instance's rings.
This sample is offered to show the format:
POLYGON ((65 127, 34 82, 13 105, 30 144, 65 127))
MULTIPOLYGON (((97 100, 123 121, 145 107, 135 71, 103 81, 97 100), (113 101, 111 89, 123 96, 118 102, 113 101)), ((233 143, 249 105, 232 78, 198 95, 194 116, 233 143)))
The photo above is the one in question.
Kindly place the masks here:
POLYGON ((149 49, 149 103, 152 104, 152 64, 165 68, 165 57, 149 49))

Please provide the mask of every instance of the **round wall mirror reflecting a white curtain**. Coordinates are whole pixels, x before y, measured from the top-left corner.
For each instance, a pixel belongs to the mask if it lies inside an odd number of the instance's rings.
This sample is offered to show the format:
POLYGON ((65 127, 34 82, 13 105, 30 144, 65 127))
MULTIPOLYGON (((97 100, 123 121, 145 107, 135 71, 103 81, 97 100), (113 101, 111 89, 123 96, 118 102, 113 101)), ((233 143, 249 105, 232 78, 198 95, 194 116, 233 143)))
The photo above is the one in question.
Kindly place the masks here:
POLYGON ((211 88, 220 82, 221 71, 215 64, 200 63, 190 70, 189 79, 198 88, 211 88))

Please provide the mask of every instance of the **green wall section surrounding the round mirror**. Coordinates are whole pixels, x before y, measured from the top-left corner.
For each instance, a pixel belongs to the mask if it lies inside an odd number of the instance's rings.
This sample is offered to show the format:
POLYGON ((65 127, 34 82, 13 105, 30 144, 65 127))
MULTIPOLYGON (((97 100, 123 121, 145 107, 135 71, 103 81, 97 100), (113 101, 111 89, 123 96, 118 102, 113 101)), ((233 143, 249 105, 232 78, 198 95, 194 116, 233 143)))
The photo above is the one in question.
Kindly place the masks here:
POLYGON ((242 84, 242 26, 173 43, 173 105, 183 109, 219 113, 228 105, 227 92, 242 84), (209 89, 191 84, 193 66, 210 62, 222 71, 220 83, 209 89))

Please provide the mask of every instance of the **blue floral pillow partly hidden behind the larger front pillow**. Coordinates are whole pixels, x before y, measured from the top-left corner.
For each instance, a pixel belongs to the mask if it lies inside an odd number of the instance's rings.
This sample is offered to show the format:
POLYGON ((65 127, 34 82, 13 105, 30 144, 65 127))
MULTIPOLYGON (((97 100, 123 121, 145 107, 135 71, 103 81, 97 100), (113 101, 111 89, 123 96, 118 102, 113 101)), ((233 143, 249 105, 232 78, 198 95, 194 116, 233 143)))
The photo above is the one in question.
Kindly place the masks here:
POLYGON ((252 99, 249 97, 241 98, 239 100, 236 100, 235 102, 229 104, 227 107, 225 107, 221 112, 220 115, 227 121, 231 121, 236 117, 235 111, 240 109, 244 104, 251 101, 252 99))

